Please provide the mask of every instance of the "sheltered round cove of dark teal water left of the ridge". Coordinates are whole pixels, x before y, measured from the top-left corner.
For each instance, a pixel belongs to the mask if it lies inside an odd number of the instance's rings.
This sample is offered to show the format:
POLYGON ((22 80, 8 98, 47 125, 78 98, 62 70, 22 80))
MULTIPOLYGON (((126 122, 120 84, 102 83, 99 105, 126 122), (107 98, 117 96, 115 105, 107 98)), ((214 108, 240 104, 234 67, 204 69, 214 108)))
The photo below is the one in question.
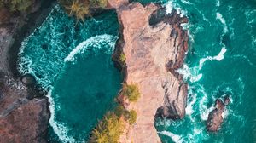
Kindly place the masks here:
POLYGON ((115 106, 122 79, 111 55, 118 31, 114 11, 82 23, 56 5, 23 41, 19 71, 32 74, 49 93, 49 142, 87 140, 115 106))

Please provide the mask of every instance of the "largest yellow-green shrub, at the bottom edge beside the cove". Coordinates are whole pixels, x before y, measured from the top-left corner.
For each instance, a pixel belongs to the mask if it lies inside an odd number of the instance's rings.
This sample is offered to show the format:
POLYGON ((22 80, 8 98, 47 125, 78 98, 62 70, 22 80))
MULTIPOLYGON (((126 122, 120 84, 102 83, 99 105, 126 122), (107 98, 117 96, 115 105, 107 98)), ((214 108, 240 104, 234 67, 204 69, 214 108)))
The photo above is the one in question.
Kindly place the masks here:
POLYGON ((108 112, 93 129, 90 143, 118 143, 125 128, 124 121, 113 112, 108 112))

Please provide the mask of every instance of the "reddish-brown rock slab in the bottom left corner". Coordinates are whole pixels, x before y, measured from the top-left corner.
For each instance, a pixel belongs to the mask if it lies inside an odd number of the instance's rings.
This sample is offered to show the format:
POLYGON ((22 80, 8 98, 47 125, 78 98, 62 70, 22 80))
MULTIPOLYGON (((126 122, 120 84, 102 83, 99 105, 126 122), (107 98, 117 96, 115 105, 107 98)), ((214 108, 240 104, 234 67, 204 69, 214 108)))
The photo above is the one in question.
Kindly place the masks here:
POLYGON ((45 99, 34 99, 16 108, 6 117, 0 117, 1 142, 46 142, 49 120, 47 104, 45 99))

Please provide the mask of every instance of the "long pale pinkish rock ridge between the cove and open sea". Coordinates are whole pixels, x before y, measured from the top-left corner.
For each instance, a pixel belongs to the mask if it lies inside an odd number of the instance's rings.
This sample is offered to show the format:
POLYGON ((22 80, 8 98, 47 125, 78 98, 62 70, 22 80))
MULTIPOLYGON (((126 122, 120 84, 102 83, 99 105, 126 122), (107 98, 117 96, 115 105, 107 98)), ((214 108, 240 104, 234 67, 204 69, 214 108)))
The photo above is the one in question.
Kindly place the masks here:
POLYGON ((188 36, 181 23, 186 18, 156 4, 130 3, 117 8, 120 35, 113 54, 125 54, 125 83, 137 83, 141 98, 125 106, 137 111, 137 123, 125 129, 120 142, 160 142, 155 117, 184 117, 187 84, 175 70, 183 65, 188 36), (162 13, 164 12, 164 13, 162 13))

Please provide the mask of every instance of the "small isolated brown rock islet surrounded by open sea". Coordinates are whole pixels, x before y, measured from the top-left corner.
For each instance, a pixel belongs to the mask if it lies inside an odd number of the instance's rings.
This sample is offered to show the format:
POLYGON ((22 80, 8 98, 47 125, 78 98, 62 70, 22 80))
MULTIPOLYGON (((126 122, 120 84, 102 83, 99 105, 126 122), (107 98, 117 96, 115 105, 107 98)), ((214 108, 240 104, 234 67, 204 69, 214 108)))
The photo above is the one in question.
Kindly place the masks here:
POLYGON ((230 98, 229 96, 224 97, 224 101, 217 99, 215 101, 215 109, 209 113, 207 119, 207 130, 210 132, 218 131, 221 124, 224 122, 223 112, 225 106, 229 105, 230 98))

